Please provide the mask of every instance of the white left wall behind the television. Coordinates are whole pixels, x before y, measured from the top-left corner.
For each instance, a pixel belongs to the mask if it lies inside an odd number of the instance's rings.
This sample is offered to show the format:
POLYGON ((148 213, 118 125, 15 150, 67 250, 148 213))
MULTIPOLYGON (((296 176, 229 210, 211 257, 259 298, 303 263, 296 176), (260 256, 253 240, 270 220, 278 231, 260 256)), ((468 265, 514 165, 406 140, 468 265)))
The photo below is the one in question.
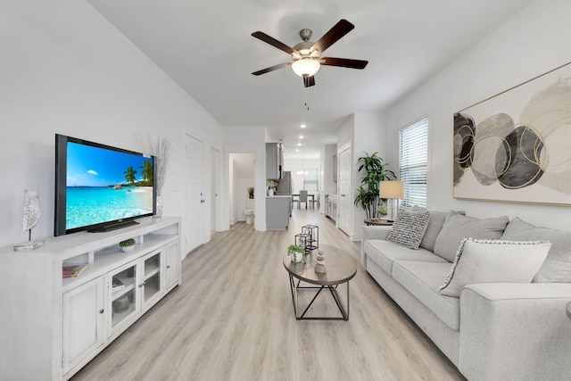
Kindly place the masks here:
MULTIPOLYGON (((135 151, 143 149, 140 136, 168 138, 173 154, 165 215, 180 215, 188 133, 205 145, 204 195, 211 194, 210 147, 222 148, 219 123, 91 5, 4 0, 0 46, 0 245, 27 239, 21 231, 24 189, 41 196, 34 236, 53 236, 55 133, 135 151)), ((204 222, 207 236, 211 224, 204 222)))

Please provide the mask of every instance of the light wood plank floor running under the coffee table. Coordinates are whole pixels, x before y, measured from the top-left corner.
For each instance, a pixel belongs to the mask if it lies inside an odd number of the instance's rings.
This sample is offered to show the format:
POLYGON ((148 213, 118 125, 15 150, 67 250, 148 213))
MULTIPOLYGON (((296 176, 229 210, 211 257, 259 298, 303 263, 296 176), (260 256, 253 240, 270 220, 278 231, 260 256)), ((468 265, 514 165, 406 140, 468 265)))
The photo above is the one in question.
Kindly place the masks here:
MULTIPOLYGON (((348 321, 296 320, 282 256, 307 224, 320 244, 360 257, 360 243, 318 211, 294 210, 287 231, 237 223, 190 253, 182 285, 72 379, 463 379, 360 265, 348 321)), ((335 309, 319 295, 315 312, 335 309)))

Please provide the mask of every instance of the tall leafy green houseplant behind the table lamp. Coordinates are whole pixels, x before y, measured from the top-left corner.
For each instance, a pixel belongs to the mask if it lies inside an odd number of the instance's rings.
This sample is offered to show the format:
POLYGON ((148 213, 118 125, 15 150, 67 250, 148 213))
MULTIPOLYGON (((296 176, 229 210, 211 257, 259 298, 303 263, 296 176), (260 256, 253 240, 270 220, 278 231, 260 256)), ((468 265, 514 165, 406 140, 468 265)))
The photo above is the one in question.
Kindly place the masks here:
POLYGON ((376 219, 379 208, 383 206, 383 200, 378 195, 378 184, 380 181, 394 180, 396 175, 377 153, 365 153, 357 163, 360 164, 358 172, 364 171, 364 175, 357 189, 355 206, 363 208, 367 219, 376 219))

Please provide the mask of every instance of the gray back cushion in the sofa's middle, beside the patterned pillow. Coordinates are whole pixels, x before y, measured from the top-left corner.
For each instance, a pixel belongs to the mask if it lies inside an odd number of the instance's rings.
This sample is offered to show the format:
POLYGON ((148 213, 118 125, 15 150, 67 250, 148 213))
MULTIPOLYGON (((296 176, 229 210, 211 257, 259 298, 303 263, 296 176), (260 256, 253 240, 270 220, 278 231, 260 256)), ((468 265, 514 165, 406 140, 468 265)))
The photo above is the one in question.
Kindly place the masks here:
POLYGON ((438 237, 436 237, 434 254, 453 262, 462 239, 498 239, 508 221, 507 216, 493 219, 475 219, 461 214, 449 215, 446 217, 438 237))

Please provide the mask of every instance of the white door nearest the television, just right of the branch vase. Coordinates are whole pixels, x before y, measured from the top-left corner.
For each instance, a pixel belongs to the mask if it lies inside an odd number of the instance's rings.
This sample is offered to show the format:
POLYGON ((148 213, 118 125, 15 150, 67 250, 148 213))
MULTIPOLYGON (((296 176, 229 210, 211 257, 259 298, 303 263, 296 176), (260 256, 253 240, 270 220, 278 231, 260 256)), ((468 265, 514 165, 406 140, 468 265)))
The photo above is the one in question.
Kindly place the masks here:
POLYGON ((186 135, 185 142, 185 216, 183 255, 203 244, 203 142, 186 135))

